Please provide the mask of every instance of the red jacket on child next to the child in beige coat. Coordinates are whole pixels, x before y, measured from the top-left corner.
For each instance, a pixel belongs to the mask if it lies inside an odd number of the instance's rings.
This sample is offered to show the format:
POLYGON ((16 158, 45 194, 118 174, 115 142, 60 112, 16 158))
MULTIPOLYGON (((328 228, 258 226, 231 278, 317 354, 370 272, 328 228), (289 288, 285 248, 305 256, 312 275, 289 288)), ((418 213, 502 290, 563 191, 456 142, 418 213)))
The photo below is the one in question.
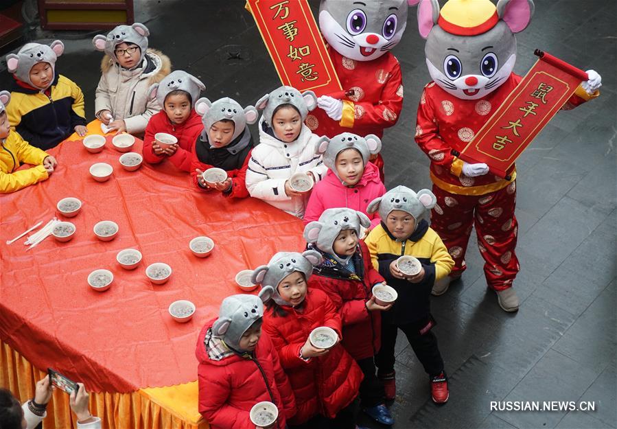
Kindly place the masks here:
POLYGON ((182 124, 172 124, 165 111, 160 111, 150 117, 148 126, 145 127, 143 136, 143 159, 150 164, 158 164, 163 159, 169 158, 172 164, 180 170, 189 172, 191 168, 191 152, 195 146, 195 140, 200 135, 204 126, 200 115, 192 110, 191 115, 182 124), (154 135, 157 132, 167 132, 178 139, 178 150, 172 156, 156 155, 152 151, 154 135))

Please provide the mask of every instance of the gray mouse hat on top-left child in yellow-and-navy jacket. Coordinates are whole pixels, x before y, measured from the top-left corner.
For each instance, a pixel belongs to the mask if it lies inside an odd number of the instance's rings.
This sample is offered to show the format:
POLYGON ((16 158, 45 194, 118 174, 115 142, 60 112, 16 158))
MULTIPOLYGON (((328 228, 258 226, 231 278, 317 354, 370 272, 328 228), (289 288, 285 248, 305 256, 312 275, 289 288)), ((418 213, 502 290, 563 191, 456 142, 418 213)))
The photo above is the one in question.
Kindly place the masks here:
MULTIPOLYGON (((6 67, 9 73, 14 73, 21 82, 38 88, 38 86, 34 85, 30 80, 30 69, 38 64, 38 62, 47 62, 51 66, 51 69, 54 70, 54 77, 51 78, 49 82, 49 85, 51 85, 56 78, 56 60, 64 51, 65 45, 60 40, 54 40, 51 42, 51 45, 26 43, 19 49, 17 54, 8 54, 6 56, 6 67)), ((49 85, 47 88, 49 88, 49 85)))

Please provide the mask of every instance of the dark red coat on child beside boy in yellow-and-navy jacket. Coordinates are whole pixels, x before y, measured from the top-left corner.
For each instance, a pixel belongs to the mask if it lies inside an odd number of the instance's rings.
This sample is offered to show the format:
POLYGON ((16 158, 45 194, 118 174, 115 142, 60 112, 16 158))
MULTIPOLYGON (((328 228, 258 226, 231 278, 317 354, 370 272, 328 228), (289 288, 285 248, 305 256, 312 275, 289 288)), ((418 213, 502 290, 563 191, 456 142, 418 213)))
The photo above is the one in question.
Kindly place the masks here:
POLYGON ((384 277, 373 268, 371 253, 362 240, 356 255, 362 261, 361 271, 356 265, 356 274, 362 280, 337 276, 336 272, 321 268, 322 264, 314 268, 309 287, 323 290, 334 302, 342 320, 341 344, 354 359, 360 360, 375 356, 381 347, 381 313, 369 312, 365 303, 371 299, 375 283, 381 283, 384 277))

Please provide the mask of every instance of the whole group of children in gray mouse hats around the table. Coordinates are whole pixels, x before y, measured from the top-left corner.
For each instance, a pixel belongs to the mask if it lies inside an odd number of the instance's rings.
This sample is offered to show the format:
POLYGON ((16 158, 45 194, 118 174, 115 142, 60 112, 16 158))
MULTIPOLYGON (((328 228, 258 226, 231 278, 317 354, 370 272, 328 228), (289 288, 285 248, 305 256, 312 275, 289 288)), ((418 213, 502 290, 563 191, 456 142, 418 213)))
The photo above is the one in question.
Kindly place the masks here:
MULTIPOLYGON (((95 98, 102 129, 143 136, 145 162, 169 161, 205 195, 252 196, 305 222, 303 253, 279 252, 256 268, 259 297, 227 297, 199 334, 199 410, 210 426, 261 429, 249 415, 261 401, 279 410, 269 428, 353 429, 358 407, 392 425, 386 402, 396 396, 399 329, 428 374, 432 400, 447 402, 430 312, 435 285, 455 267, 430 227, 443 196, 404 186, 386 192, 369 161, 380 152, 380 137, 314 134, 305 119, 323 106, 312 91, 281 86, 246 107, 200 97, 205 85, 171 72, 170 59, 148 47, 148 35, 135 23, 93 39, 105 53, 95 98), (248 127, 255 123, 258 141, 248 127), (161 132, 177 143, 159 145, 161 132), (203 173, 213 167, 227 177, 206 181, 203 173), (297 177, 312 188, 294 187, 297 177), (404 255, 419 260, 419 273, 399 270, 404 255), (377 303, 372 290, 379 283, 394 288, 394 303, 377 303), (316 327, 333 329, 336 344, 315 347, 316 327)), ((57 165, 45 150, 73 132, 86 134, 82 91, 56 69, 63 50, 59 40, 28 43, 7 56, 15 82, 11 93, 0 91, 2 193, 45 181, 57 165), (19 169, 22 163, 33 167, 19 169)))

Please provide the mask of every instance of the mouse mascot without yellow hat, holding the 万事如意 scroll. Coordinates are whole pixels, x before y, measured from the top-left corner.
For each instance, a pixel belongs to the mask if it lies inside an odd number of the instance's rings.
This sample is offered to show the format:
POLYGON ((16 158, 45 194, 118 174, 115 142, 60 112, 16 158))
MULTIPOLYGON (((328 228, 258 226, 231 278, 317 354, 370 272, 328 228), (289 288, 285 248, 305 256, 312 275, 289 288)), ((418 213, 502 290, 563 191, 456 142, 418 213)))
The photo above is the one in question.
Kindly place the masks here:
MULTIPOLYGON (((396 124, 403 107, 403 80, 390 50, 399 43, 407 24, 408 4, 418 0, 322 0, 319 27, 338 80, 346 95, 319 97, 306 118, 317 135, 334 137, 353 132, 362 137, 384 135, 396 124)), ((372 156, 371 156, 372 158, 372 156)), ((384 161, 372 160, 384 181, 384 161)))

